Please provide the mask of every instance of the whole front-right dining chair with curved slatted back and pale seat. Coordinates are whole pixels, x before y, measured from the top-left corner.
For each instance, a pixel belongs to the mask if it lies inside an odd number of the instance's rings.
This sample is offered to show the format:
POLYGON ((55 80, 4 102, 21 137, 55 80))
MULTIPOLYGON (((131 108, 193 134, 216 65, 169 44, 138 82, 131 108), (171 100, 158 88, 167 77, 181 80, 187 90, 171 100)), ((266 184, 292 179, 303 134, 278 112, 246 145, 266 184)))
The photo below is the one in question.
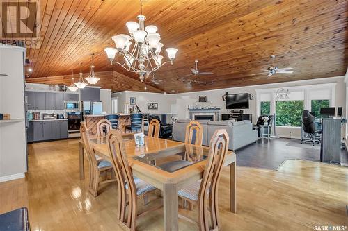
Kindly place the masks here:
POLYGON ((216 130, 210 140, 209 154, 202 180, 180 189, 177 193, 180 198, 188 200, 198 207, 198 222, 183 215, 179 215, 179 217, 196 223, 201 231, 220 230, 221 228, 219 222, 218 188, 223 162, 228 152, 228 142, 229 137, 226 130, 216 130), (210 217, 208 216, 207 200, 209 200, 210 217), (209 220, 211 227, 209 227, 209 220))

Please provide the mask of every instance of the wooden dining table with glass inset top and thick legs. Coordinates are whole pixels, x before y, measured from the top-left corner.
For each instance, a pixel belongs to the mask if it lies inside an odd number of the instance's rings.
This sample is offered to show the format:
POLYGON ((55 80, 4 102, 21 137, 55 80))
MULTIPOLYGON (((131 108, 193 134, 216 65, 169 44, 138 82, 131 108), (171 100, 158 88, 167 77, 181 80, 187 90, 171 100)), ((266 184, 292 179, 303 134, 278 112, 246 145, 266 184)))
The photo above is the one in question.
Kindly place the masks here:
MULTIPOLYGON (((90 139, 90 144, 95 154, 111 161, 104 137, 90 139)), ((136 146, 134 139, 125 139, 125 148, 133 175, 152 184, 163 193, 164 230, 178 230, 177 191, 203 178, 209 147, 184 144, 168 139, 145 137, 145 144, 142 146, 136 146), (182 153, 186 154, 182 155, 182 153), (161 166, 167 165, 166 162, 177 161, 180 158, 191 158, 194 160, 191 164, 180 166, 174 170, 161 168, 161 166)), ((80 157, 81 155, 83 157, 83 153, 82 145, 80 146, 80 157)), ((235 153, 228 151, 224 166, 230 166, 230 211, 236 213, 235 153)))

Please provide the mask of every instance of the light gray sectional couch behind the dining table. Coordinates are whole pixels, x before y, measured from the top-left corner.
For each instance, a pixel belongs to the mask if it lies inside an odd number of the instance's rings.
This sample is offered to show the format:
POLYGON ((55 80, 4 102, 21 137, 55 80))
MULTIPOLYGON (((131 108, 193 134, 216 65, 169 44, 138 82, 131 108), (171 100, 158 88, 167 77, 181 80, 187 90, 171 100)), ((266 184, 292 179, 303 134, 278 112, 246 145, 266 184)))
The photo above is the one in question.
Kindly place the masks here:
MULTIPOLYGON (((190 121, 180 119, 173 124, 174 140, 184 142, 186 126, 190 121)), ((210 139, 216 129, 226 129, 230 137, 228 149, 236 150, 247 146, 258 140, 258 131, 253 130, 253 124, 250 120, 235 122, 227 121, 199 121, 203 126, 203 145, 209 146, 210 139)))

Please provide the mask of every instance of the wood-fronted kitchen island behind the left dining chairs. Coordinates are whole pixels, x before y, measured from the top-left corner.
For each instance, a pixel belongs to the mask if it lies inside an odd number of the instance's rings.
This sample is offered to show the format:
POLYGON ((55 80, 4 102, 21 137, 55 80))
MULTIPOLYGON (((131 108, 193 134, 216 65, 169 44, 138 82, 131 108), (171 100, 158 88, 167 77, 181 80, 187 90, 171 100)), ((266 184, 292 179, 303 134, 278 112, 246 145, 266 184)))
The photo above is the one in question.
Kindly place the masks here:
MULTIPOLYGON (((118 116, 118 130, 120 132, 126 132, 125 126, 130 125, 130 114, 118 114, 118 116)), ((86 122, 90 135, 97 135, 97 123, 101 119, 105 119, 105 116, 101 114, 88 114, 84 116, 84 121, 86 122)))

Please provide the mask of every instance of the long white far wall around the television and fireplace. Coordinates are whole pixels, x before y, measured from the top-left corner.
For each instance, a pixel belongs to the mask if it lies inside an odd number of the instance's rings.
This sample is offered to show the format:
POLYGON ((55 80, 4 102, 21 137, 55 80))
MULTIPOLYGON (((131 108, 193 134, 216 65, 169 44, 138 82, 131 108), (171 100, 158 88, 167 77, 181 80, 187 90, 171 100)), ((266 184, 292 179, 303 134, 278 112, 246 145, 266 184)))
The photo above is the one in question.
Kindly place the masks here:
MULTIPOLYGON (((171 112, 171 105, 177 105, 177 117, 179 119, 188 119, 189 112, 187 108, 189 105, 194 105, 197 103, 198 105, 206 106, 212 105, 221 108, 221 113, 228 113, 230 110, 226 110, 225 102, 222 100, 223 94, 228 92, 229 94, 236 93, 251 93, 253 94, 253 100, 249 101, 249 109, 244 110, 245 114, 253 114, 253 123, 258 119, 257 112, 257 90, 262 89, 278 89, 281 87, 289 88, 289 87, 297 87, 297 88, 306 88, 306 86, 310 85, 319 85, 325 83, 333 83, 333 101, 331 101, 332 106, 342 106, 343 112, 345 112, 346 105, 346 84, 344 83, 345 76, 338 76, 332 78, 319 78, 313 80, 301 80, 301 81, 293 81, 287 83, 274 83, 274 84, 266 84, 266 85, 253 85, 247 87, 231 87, 226 89, 215 89, 208 90, 202 92, 190 92, 190 93, 180 93, 180 94, 157 94, 157 93, 148 93, 148 92, 118 92, 113 94, 113 97, 118 96, 118 105, 119 108, 122 109, 119 112, 123 112, 124 103, 129 103, 129 97, 136 97, 136 104, 139 105, 142 112, 154 113, 154 114, 166 114, 173 113, 171 112), (207 103, 198 103, 198 96, 207 96, 207 103), (147 102, 157 102, 159 103, 159 110, 147 110, 147 102)), ((347 85, 348 86, 348 85, 347 85)), ((345 117, 345 115, 344 115, 345 117)), ((301 128, 290 128, 290 127, 278 127, 276 128, 277 135, 281 137, 289 137, 290 132, 292 138, 301 137, 301 128)))

